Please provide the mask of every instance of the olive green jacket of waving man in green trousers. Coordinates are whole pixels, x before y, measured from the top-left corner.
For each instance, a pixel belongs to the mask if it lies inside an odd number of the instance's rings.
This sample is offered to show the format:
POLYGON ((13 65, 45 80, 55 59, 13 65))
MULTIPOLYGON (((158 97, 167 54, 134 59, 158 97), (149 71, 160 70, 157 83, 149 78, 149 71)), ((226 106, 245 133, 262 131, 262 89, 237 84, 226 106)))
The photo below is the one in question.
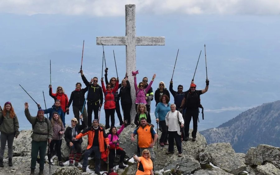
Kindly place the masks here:
POLYGON ((53 127, 49 119, 47 119, 47 122, 45 122, 45 119, 42 121, 39 120, 37 116, 32 117, 29 113, 29 110, 24 111, 25 116, 27 120, 32 124, 32 126, 35 124, 35 121, 37 120, 36 124, 33 128, 33 133, 31 135, 32 140, 41 142, 41 141, 47 141, 48 139, 52 140, 53 138, 53 127), (49 128, 49 130, 48 130, 49 128))

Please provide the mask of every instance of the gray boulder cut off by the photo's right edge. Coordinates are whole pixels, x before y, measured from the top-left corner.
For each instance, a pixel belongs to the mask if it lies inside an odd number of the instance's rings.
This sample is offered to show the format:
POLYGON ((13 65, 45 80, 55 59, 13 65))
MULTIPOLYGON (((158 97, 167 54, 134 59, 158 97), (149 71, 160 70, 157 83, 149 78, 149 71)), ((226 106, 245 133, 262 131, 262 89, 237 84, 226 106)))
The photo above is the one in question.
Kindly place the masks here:
POLYGON ((280 168, 280 148, 260 144, 257 148, 250 148, 245 157, 248 165, 261 165, 264 162, 272 163, 276 168, 280 168))

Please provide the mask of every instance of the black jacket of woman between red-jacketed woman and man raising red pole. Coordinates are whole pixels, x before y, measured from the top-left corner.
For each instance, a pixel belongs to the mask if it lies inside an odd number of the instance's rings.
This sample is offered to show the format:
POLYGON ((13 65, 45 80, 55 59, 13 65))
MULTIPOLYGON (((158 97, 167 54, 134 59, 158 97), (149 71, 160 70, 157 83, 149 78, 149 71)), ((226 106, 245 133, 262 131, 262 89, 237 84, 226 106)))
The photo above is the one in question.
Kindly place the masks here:
POLYGON ((85 93, 86 93, 87 90, 88 90, 88 87, 83 88, 79 91, 76 91, 76 90, 72 91, 67 107, 69 108, 72 101, 73 101, 72 106, 83 106, 84 102, 86 100, 85 99, 85 93))

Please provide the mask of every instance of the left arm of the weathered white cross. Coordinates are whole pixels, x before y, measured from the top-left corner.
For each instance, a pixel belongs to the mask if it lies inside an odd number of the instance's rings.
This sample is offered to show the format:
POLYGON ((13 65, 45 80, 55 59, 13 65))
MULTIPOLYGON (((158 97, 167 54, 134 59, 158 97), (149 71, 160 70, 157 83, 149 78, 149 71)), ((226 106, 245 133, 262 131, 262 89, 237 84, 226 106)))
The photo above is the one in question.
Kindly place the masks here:
POLYGON ((126 36, 97 36, 96 45, 126 45, 126 36))

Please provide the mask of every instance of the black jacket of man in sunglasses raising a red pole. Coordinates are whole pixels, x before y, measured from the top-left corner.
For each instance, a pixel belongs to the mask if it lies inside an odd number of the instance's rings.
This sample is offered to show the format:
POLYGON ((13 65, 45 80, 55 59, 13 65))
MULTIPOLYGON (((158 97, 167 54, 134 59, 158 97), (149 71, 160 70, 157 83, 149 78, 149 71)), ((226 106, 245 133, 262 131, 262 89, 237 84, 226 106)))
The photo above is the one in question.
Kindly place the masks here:
POLYGON ((85 75, 82 75, 82 80, 85 83, 86 87, 89 87, 88 94, 86 100, 88 102, 94 102, 103 104, 103 92, 102 88, 97 84, 96 86, 93 86, 93 84, 90 84, 90 82, 87 81, 85 75))

